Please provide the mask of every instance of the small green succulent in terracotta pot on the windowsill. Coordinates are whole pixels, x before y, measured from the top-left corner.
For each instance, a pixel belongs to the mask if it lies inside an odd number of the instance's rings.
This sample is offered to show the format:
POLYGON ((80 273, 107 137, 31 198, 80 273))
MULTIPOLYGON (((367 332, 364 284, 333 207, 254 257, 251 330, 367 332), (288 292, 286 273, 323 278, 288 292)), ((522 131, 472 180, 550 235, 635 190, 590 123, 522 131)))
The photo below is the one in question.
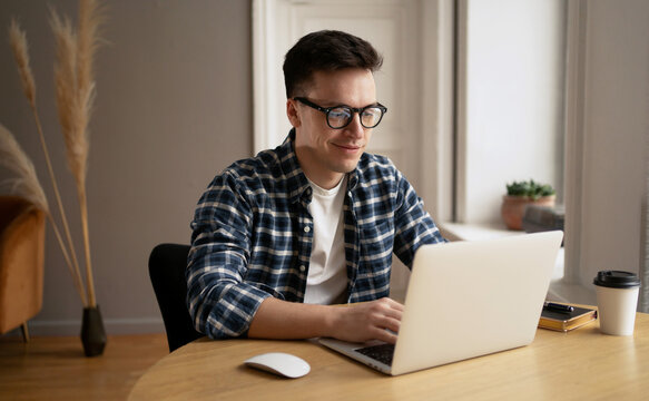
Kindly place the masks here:
POLYGON ((507 184, 501 214, 509 229, 522 229, 522 219, 528 205, 553 207, 557 192, 549 184, 539 184, 533 179, 507 184))

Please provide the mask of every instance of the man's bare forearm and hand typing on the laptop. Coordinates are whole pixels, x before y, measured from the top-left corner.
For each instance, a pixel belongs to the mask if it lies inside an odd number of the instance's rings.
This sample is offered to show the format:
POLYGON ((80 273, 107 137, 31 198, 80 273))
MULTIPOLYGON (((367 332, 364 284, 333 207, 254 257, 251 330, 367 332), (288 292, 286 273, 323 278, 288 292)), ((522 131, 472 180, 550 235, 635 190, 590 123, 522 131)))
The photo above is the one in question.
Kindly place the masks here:
POLYGON ((330 336, 353 342, 381 340, 395 343, 402 314, 403 305, 387 297, 344 306, 291 303, 269 297, 257 310, 248 336, 330 336))

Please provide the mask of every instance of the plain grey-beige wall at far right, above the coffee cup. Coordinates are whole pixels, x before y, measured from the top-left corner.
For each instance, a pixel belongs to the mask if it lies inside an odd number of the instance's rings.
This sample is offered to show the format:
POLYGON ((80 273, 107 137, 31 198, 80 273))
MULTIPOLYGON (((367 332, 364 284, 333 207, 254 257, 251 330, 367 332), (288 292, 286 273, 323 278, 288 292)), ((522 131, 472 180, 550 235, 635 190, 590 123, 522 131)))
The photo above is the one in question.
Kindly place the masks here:
MULTIPOLYGON (((581 258, 572 278, 590 293, 600 270, 639 272, 649 136, 649 2, 588 1, 581 188, 581 258)), ((570 213, 571 211, 567 211, 570 213)), ((581 300, 576 300, 581 301, 581 300)))

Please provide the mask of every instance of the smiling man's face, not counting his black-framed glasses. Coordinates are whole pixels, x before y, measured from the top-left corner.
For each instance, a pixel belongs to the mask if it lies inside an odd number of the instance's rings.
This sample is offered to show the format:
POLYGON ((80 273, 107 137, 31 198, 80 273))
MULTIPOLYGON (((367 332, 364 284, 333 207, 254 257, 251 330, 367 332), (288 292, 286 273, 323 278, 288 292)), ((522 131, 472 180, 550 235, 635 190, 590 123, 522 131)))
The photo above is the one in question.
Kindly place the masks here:
MULTIPOLYGON (((331 107, 365 107, 376 102, 374 76, 364 69, 317 71, 313 85, 302 97, 331 107)), ((295 127, 295 151, 306 176, 323 188, 333 188, 344 174, 352 172, 372 136, 361 125, 358 114, 342 129, 330 128, 324 113, 288 99, 288 119, 295 127)))

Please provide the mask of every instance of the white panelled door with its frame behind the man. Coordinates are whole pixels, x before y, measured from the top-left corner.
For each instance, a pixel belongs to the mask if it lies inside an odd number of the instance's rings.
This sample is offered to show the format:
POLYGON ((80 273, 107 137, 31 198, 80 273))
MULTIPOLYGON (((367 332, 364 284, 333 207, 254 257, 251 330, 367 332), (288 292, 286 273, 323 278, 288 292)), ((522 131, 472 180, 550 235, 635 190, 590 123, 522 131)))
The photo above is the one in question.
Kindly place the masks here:
MULTIPOLYGON (((440 23, 441 9, 449 10, 449 3, 425 0, 255 1, 255 151, 276 147, 291 128, 282 72, 286 51, 308 32, 343 30, 370 41, 384 58, 375 80, 377 100, 387 107, 387 114, 375 128, 367 151, 390 157, 419 195, 427 198, 431 214, 440 209, 440 204, 450 205, 451 192, 441 186, 442 183, 450 185, 451 130, 444 130, 446 138, 440 128, 450 124, 451 101, 440 105, 439 100, 445 88, 440 81, 446 81, 442 76, 452 74, 449 72, 451 68, 441 69, 440 65, 446 66, 452 60, 439 57, 441 51, 451 48, 451 43, 440 46, 439 36, 440 30, 451 30, 452 25, 440 23), (449 178, 440 178, 443 176, 449 178)), ((445 33, 448 38, 452 36, 445 33)), ((407 270, 395 258, 392 281, 395 297, 404 294, 406 283, 407 270)))

